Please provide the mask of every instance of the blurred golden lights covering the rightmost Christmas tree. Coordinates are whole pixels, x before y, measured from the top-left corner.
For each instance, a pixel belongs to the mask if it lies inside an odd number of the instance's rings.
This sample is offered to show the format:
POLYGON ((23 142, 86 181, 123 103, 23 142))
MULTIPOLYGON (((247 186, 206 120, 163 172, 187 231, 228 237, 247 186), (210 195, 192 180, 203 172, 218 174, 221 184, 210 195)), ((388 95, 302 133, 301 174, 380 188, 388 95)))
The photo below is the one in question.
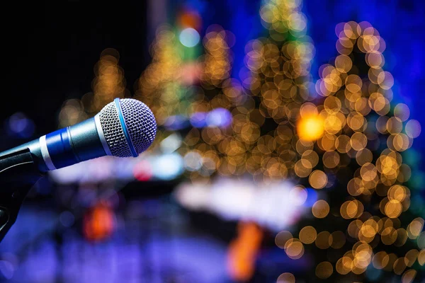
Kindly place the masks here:
MULTIPOLYGON (((295 149, 301 149, 297 150, 301 158, 294 170, 297 176, 309 178, 312 187, 322 189, 331 185, 327 175, 336 175, 339 168, 356 161, 358 168, 346 187, 351 197, 336 214, 351 222, 346 231, 319 232, 313 226, 305 226, 298 237, 282 231, 276 236, 276 244, 293 259, 302 256, 305 245, 314 244, 319 249, 350 246, 334 262, 317 264, 315 273, 320 279, 327 279, 334 272, 361 275, 372 264, 378 270, 402 275, 402 282, 412 282, 416 270, 410 267, 416 261, 425 264, 425 221, 419 217, 402 227, 397 218, 410 205, 410 190, 403 183, 409 180, 411 169, 403 163, 400 152, 412 146, 420 126, 416 120, 408 120, 409 108, 403 103, 395 105, 391 115, 394 79, 390 72, 382 70, 385 42, 378 31, 366 22, 348 22, 337 25, 336 35, 339 55, 334 64, 319 69, 321 79, 315 85, 323 103, 305 102, 298 108, 297 143, 302 146, 295 143, 295 149), (350 56, 356 47, 365 53, 370 67, 366 78, 360 77, 350 56), (373 119, 373 115, 377 118, 373 119), (387 148, 378 154, 384 137, 387 148), (312 151, 314 145, 320 156, 312 151), (319 159, 324 171, 314 170, 319 159), (380 197, 378 215, 365 211, 363 205, 372 195, 380 197), (354 239, 353 245, 345 245, 348 238, 354 239), (401 256, 379 246, 401 247, 409 239, 416 241, 418 249, 401 256)), ((318 200, 312 206, 312 214, 318 219, 327 217, 330 210, 326 200, 318 200)), ((284 273, 278 282, 293 282, 292 278, 295 280, 293 275, 284 273)))

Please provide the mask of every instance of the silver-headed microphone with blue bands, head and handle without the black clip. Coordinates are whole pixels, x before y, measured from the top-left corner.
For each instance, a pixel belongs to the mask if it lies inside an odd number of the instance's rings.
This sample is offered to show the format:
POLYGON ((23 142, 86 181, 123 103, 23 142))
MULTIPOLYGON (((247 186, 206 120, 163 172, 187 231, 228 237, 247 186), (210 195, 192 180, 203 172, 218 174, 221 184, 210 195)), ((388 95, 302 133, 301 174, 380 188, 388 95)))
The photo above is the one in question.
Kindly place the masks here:
POLYGON ((8 149, 0 159, 29 149, 38 170, 46 172, 106 155, 137 157, 156 134, 157 122, 145 103, 115 98, 94 117, 8 149))

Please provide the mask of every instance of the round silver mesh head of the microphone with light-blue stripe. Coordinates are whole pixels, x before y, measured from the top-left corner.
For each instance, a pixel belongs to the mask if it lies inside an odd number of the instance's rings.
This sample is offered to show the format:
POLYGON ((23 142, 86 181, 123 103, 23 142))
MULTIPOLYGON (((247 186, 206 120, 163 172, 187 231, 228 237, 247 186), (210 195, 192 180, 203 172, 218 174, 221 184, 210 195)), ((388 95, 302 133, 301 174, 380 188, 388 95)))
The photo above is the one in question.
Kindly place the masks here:
POLYGON ((139 100, 125 98, 113 101, 106 105, 98 116, 103 135, 113 156, 135 156, 132 154, 131 146, 135 153, 141 154, 152 144, 157 134, 154 114, 139 100))

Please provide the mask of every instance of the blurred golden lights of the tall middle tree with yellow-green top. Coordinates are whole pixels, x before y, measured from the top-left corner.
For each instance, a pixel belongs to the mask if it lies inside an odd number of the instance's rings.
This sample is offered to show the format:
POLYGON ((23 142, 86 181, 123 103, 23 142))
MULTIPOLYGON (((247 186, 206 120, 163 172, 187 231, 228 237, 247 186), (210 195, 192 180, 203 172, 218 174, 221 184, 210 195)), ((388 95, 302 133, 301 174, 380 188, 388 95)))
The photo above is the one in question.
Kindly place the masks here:
MULTIPOLYGON (((230 129, 208 127, 189 132, 185 144, 202 164, 198 171, 188 168, 193 171, 192 178, 208 178, 215 171, 220 175, 249 173, 258 181, 287 178, 299 167, 298 156, 304 154, 305 163, 307 158, 314 158, 313 143, 299 140, 294 127, 302 106, 310 117, 307 105, 302 103, 313 99, 310 90, 314 88, 310 76, 314 46, 305 35, 300 1, 271 2, 261 9, 261 17, 272 39, 252 40, 246 45, 249 76, 242 82, 225 79, 213 83, 221 91, 210 100, 203 96, 193 103, 195 111, 228 109, 232 125, 230 129), (295 40, 283 42, 287 37, 295 40), (276 127, 264 133, 261 127, 270 120, 276 127)), ((305 124, 311 128, 314 123, 305 124)), ((305 177, 305 172, 300 175, 305 177)))

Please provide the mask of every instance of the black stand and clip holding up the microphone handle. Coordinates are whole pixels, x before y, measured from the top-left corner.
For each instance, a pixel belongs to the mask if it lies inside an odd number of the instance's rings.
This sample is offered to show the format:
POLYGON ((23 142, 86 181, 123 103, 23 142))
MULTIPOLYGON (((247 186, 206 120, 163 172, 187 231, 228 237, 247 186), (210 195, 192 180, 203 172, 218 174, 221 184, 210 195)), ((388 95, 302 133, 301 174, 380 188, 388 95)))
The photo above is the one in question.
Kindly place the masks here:
POLYGON ((28 191, 44 175, 28 148, 0 156, 0 242, 15 223, 28 191))

